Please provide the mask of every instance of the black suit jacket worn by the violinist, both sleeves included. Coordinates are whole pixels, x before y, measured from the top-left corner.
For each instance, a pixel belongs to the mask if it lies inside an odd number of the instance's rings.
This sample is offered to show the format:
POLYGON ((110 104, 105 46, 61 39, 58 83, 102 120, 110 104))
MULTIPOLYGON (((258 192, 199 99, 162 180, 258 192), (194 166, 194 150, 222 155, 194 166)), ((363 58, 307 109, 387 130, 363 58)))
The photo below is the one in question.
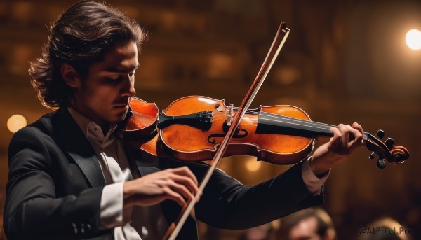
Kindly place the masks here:
MULTIPOLYGON (((187 165, 199 179, 207 164, 185 164, 169 157, 159 169, 147 165, 145 154, 126 146, 134 176, 187 165)), ((151 157, 151 156, 147 156, 151 157)), ((67 109, 48 113, 18 131, 9 151, 4 229, 13 239, 85 239, 112 230, 100 230, 100 199, 105 181, 98 159, 67 109)), ((302 181, 301 164, 255 186, 244 186, 215 171, 195 206, 196 218, 214 227, 243 229, 267 223, 323 202, 302 181)), ((180 212, 172 201, 161 204, 171 223, 180 212)), ((178 239, 196 239, 192 218, 178 239)))

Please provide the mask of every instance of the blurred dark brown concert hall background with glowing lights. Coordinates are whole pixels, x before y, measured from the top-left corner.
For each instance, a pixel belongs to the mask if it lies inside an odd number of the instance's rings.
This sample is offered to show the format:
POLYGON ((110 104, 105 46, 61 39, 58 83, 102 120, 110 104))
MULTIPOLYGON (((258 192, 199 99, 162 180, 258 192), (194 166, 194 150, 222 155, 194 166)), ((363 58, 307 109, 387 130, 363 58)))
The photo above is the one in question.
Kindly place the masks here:
MULTIPOLYGON (((75 2, 0 0, 0 213, 12 132, 48 113, 29 85, 28 62, 40 55, 50 22, 75 2)), ((193 94, 238 106, 285 21, 290 36, 252 107, 288 104, 317 122, 359 122, 372 134, 384 129, 386 138, 408 148, 410 160, 381 170, 368 160, 366 148, 356 150, 332 170, 322 207, 338 239, 356 239, 359 226, 381 216, 398 220, 413 230, 413 239, 421 239, 421 50, 411 49, 421 45, 420 36, 409 39, 415 46, 406 43, 410 29, 421 30, 419 0, 107 3, 149 31, 135 85, 137 97, 160 109, 193 94)), ((290 166, 237 156, 220 167, 252 185, 290 166)), ((199 227, 201 239, 239 239, 246 232, 199 227)), ((265 229, 277 227, 274 221, 265 229)))

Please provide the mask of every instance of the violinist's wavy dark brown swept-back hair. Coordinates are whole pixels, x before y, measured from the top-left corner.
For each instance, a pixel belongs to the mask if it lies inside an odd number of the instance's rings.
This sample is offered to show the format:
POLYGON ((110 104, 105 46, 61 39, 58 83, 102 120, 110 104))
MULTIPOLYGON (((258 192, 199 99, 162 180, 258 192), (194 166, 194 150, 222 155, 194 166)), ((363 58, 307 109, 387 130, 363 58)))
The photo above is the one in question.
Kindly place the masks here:
POLYGON ((146 38, 138 22, 95 1, 69 7, 49 30, 41 57, 29 62, 29 76, 36 97, 51 109, 68 106, 72 99, 72 88, 62 79, 62 64, 72 65, 83 78, 115 44, 134 41, 140 50, 146 38))

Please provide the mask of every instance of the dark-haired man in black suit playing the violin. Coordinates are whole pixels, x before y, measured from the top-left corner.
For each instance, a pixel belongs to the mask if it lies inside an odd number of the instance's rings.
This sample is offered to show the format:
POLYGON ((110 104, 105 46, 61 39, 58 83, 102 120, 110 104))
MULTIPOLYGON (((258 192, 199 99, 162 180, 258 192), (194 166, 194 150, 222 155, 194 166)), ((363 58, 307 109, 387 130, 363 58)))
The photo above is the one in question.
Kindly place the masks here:
MULTIPOLYGON (((4 211, 8 239, 161 239, 207 165, 150 157, 115 134, 135 96, 145 32, 118 10, 93 1, 51 25, 29 74, 41 103, 58 109, 11 140, 4 211)), ((330 168, 362 143, 357 123, 283 174, 244 186, 217 170, 196 203, 214 227, 262 225, 323 202, 330 168)), ((188 218, 178 239, 196 239, 188 218)))

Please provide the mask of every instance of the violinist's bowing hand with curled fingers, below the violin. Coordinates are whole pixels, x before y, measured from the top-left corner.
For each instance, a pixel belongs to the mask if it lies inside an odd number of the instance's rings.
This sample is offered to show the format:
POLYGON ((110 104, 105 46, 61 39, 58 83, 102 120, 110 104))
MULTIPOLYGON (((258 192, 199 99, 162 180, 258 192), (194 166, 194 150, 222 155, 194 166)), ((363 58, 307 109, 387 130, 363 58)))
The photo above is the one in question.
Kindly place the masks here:
POLYGON ((124 206, 152 206, 171 199, 184 206, 199 191, 196 176, 188 167, 166 169, 123 184, 124 206))

